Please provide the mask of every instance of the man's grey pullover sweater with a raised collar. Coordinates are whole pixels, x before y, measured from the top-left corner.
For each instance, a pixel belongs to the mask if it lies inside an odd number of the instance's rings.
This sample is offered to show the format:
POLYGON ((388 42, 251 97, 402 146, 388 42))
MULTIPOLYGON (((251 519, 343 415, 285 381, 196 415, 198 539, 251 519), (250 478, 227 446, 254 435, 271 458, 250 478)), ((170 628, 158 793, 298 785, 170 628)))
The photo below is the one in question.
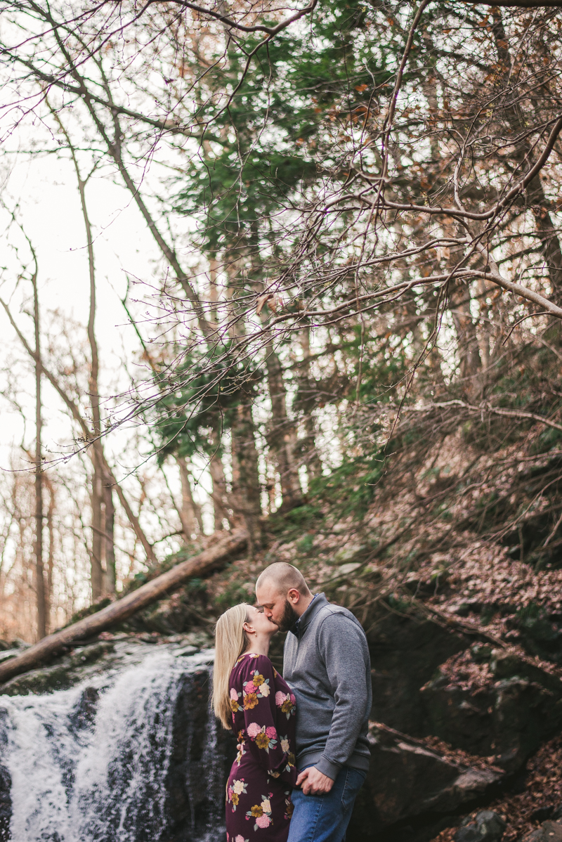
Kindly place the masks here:
POLYGON ((368 770, 371 663, 351 611, 317 594, 287 635, 283 675, 297 700, 298 768, 333 781, 344 765, 368 770))

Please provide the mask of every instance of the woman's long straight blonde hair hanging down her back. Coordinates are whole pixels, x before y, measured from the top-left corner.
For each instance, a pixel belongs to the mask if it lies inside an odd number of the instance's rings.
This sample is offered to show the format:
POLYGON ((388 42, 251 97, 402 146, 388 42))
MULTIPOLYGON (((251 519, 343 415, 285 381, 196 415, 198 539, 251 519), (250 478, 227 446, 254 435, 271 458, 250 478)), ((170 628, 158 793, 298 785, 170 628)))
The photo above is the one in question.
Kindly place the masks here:
POLYGON ((211 703, 215 717, 223 727, 232 729, 231 694, 229 679, 241 653, 247 649, 250 638, 244 631, 250 605, 241 602, 225 611, 215 626, 215 667, 213 668, 213 696, 211 703))

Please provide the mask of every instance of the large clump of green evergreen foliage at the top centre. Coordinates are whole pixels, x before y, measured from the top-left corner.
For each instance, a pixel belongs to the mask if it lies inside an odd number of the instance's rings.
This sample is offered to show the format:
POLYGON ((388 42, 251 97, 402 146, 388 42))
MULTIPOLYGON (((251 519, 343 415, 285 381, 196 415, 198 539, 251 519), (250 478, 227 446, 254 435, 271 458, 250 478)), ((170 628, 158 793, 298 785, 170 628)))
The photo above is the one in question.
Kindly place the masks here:
POLYGON ((247 52, 259 43, 254 36, 243 52, 231 45, 227 64, 218 61, 206 74, 197 120, 212 129, 204 133, 200 164, 178 179, 176 206, 199 218, 209 252, 238 249, 241 238, 254 247, 269 240, 267 221, 322 177, 320 161, 322 168, 333 163, 317 155, 326 120, 343 115, 360 125, 374 89, 390 78, 382 45, 375 58, 361 37, 365 16, 357 0, 331 0, 315 13, 314 29, 278 35, 246 73, 247 52))

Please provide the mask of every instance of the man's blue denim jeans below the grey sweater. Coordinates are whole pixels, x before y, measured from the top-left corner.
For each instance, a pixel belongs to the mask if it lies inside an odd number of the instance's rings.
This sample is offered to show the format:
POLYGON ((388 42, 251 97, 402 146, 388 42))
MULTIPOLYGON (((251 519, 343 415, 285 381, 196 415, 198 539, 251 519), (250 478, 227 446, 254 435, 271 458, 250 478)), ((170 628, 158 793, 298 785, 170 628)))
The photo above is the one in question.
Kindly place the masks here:
POLYGON ((343 842, 355 797, 366 777, 365 772, 342 766, 334 786, 323 795, 305 795, 294 789, 288 842, 343 842))

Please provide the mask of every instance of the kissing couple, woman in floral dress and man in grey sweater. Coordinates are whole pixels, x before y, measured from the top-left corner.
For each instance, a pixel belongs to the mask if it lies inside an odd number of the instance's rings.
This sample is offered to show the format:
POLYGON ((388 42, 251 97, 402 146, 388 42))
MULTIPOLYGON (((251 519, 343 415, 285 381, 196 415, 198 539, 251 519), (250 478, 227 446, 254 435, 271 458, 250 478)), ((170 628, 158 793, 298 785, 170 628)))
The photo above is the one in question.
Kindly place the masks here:
POLYGON ((365 633, 285 562, 260 574, 256 597, 215 632, 213 705, 238 742, 227 842, 343 842, 370 756, 365 633), (289 632, 284 676, 268 658, 278 631, 289 632))

